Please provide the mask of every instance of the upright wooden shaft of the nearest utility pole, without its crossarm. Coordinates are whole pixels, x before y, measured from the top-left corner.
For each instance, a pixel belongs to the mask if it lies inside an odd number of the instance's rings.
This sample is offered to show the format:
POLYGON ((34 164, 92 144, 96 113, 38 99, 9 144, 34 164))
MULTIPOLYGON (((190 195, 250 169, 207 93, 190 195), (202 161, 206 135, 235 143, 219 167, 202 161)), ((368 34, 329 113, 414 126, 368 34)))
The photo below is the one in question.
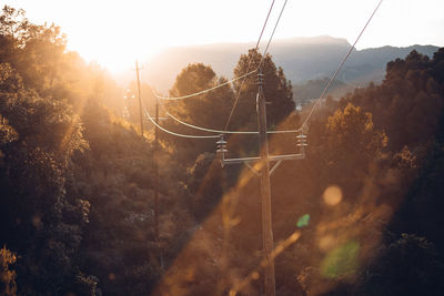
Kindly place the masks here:
POLYGON ((270 190, 270 159, 269 159, 269 142, 266 139, 266 111, 265 96, 263 95, 263 74, 260 71, 258 74, 258 122, 259 122, 259 146, 261 150, 261 202, 262 202, 262 243, 263 255, 266 261, 264 267, 264 284, 265 295, 275 295, 274 279, 274 258, 273 253, 273 229, 271 220, 271 190, 270 190))

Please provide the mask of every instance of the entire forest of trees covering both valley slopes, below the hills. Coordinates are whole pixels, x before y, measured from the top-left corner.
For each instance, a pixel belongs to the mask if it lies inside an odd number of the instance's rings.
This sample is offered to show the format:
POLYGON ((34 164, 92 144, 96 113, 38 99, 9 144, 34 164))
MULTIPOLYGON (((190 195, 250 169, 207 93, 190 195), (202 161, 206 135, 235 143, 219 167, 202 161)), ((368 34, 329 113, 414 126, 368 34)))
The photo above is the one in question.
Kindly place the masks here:
MULTIPOLYGON (((256 175, 221 169, 213 140, 160 134, 154 153, 153 130, 141 136, 134 114, 120 116, 125 91, 65 41, 58 27, 3 8, 0 295, 260 295, 256 175)), ((254 50, 241 55, 234 75, 261 60, 254 50)), ((291 82, 272 57, 262 61, 269 129, 299 127, 291 82)), ((387 64, 380 85, 316 111, 306 159, 271 178, 278 295, 443 294, 443 73, 444 49, 433 58, 413 51, 387 64)), ((194 63, 170 94, 225 81, 194 63)), ((239 96, 230 130, 253 130, 256 89, 253 74, 164 108, 223 129, 239 96)), ((259 151, 250 135, 228 146, 235 156, 259 151)), ((294 139, 270 136, 270 150, 294 153, 294 139)))

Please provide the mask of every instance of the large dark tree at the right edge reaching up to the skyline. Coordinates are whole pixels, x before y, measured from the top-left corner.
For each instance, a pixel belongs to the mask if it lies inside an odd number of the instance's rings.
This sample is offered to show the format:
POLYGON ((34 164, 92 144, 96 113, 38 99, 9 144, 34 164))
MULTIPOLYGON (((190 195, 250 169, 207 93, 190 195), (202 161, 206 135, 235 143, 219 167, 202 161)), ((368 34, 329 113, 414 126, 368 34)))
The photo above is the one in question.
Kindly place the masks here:
POLYGON ((357 89, 341 103, 361 106, 373 114, 375 127, 384 130, 391 151, 424 151, 438 131, 444 110, 442 68, 444 50, 431 60, 412 51, 404 60, 389 62, 382 85, 357 89))

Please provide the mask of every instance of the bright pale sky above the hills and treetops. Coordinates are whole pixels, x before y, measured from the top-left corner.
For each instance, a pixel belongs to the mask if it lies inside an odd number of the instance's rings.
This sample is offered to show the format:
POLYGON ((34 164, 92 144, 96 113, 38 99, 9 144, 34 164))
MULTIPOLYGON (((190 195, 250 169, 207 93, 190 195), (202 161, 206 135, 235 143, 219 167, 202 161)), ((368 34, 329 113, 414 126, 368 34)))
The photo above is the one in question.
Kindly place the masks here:
MULTIPOLYGON (((350 43, 380 0, 287 0, 274 39, 332 35, 350 43)), ((169 47, 255 42, 272 0, 6 0, 34 23, 56 23, 68 49, 111 72, 169 47)), ((268 40, 285 0, 275 0, 268 40)), ((384 0, 357 43, 444 47, 443 0, 384 0)), ((271 45, 272 47, 272 45, 271 45)))

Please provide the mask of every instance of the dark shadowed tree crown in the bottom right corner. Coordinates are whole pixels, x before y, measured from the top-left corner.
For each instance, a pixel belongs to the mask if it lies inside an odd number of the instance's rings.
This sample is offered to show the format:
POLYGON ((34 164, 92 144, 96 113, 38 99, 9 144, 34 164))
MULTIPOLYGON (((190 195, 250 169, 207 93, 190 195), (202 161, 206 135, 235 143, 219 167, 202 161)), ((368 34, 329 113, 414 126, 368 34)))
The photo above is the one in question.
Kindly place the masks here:
POLYGON ((435 246, 403 233, 362 272, 359 295, 442 295, 444 264, 435 246))

